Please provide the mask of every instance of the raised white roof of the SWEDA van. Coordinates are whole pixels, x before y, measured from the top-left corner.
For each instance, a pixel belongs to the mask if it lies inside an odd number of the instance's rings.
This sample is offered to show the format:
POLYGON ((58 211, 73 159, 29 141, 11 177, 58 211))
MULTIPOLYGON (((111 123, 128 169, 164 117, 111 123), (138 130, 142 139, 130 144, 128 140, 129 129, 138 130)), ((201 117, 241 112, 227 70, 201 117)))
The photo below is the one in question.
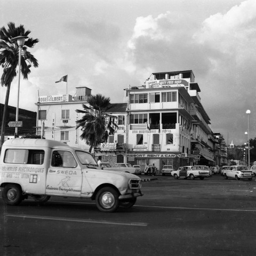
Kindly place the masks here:
POLYGON ((11 139, 6 140, 3 143, 4 146, 11 146, 11 147, 69 147, 67 144, 55 140, 44 140, 44 139, 11 139))

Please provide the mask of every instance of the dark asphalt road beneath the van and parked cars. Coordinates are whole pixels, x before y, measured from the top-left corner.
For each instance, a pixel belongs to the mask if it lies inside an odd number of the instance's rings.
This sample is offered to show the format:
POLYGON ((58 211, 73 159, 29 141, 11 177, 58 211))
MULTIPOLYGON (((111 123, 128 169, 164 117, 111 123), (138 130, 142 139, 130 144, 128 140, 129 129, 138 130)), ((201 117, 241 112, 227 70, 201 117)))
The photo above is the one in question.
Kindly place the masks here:
POLYGON ((0 198, 2 255, 255 255, 255 178, 158 176, 142 191, 131 209, 115 213, 94 201, 6 206, 0 198))

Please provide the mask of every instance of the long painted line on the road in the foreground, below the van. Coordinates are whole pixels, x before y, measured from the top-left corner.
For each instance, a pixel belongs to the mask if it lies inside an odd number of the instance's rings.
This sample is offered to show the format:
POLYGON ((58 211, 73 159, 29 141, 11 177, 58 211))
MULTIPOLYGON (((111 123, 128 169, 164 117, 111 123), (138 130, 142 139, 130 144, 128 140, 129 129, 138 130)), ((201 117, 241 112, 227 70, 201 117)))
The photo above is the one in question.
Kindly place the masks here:
POLYGON ((41 219, 41 220, 58 220, 58 221, 73 221, 73 222, 89 222, 89 223, 100 223, 110 225, 125 225, 125 226, 148 226, 148 223, 143 222, 118 222, 118 221, 106 221, 106 220, 87 220, 87 219, 73 219, 73 218, 58 218, 49 216, 36 216, 36 215, 21 215, 21 214, 6 214, 5 217, 18 217, 18 218, 29 218, 29 219, 41 219))

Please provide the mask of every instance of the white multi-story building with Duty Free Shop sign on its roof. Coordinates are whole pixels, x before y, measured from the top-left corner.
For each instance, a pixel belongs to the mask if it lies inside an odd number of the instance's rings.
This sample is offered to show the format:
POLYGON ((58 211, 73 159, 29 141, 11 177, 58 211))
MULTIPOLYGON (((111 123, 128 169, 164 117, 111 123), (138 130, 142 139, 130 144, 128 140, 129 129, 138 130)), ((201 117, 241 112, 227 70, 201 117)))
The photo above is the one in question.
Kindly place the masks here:
POLYGON ((159 169, 197 163, 201 157, 213 162, 207 145, 210 118, 198 92, 192 70, 153 73, 145 85, 126 89, 127 160, 159 169))

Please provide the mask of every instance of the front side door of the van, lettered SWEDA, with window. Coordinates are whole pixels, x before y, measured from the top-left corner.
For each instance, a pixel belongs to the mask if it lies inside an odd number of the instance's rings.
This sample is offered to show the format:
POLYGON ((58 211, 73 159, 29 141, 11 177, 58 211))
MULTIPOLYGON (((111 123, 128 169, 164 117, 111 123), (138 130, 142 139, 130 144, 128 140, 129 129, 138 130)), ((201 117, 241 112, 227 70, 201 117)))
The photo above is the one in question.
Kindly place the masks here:
POLYGON ((82 170, 73 153, 65 149, 53 149, 47 170, 46 194, 81 196, 82 170))

